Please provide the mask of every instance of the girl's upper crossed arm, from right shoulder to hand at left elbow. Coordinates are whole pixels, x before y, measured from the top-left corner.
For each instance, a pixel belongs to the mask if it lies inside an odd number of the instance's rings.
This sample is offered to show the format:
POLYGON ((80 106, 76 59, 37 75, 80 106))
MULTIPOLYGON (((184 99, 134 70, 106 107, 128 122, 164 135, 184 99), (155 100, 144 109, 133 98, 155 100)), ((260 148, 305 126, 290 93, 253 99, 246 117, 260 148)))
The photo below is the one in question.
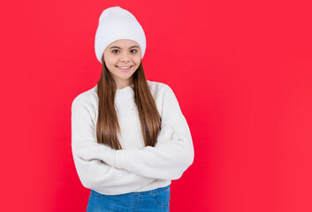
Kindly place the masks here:
POLYGON ((162 130, 155 148, 114 150, 84 141, 80 142, 77 155, 88 162, 99 160, 143 178, 180 178, 194 161, 194 147, 186 119, 170 87, 164 91, 162 111, 162 130))

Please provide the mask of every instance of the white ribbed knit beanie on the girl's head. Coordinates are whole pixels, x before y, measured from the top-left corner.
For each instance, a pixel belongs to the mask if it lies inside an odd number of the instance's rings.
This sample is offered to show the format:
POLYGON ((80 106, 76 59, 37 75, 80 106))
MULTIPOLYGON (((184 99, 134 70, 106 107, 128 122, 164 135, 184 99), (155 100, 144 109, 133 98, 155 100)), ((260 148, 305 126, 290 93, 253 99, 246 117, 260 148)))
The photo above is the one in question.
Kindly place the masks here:
POLYGON ((102 63, 104 50, 112 42, 129 39, 137 42, 141 47, 141 58, 146 49, 146 38, 140 23, 132 13, 119 6, 105 9, 99 19, 95 34, 95 55, 102 63))

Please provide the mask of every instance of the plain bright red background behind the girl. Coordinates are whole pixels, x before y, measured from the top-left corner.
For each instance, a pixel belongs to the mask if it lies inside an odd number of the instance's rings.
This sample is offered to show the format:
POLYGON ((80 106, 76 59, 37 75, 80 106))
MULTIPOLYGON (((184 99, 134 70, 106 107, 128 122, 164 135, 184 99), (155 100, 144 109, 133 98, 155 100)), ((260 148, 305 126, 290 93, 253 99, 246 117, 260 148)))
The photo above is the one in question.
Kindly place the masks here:
POLYGON ((193 136, 171 211, 312 211, 308 2, 3 3, 1 210, 86 210, 71 104, 100 77, 98 18, 119 5, 147 36, 147 78, 171 86, 193 136))

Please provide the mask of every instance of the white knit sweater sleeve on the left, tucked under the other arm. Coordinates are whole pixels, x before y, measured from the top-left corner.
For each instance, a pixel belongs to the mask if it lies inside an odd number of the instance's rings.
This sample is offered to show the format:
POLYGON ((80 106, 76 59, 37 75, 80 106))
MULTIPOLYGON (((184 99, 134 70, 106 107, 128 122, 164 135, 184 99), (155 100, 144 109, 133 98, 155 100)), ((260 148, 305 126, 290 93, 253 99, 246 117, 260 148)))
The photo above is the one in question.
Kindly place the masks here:
MULTIPOLYGON (((95 140, 92 110, 95 108, 83 99, 76 98, 72 102, 72 157, 81 184, 86 188, 110 194, 129 193, 152 182, 155 178, 142 177, 95 159, 99 151, 88 147, 104 149, 105 145, 98 144, 95 140)), ((102 153, 107 154, 106 158, 115 156, 115 150, 109 147, 102 153)), ((115 161, 115 158, 111 158, 111 161, 115 161)))

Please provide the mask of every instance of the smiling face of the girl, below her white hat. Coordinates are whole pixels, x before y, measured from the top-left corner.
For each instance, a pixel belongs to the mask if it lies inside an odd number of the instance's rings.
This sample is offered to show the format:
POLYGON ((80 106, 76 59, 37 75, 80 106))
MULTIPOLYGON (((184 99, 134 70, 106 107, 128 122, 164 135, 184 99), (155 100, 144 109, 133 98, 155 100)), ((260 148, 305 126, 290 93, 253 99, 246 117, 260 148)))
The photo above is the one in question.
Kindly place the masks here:
POLYGON ((137 42, 118 40, 103 53, 104 63, 116 81, 117 88, 130 86, 133 73, 141 64, 141 48, 137 42))

